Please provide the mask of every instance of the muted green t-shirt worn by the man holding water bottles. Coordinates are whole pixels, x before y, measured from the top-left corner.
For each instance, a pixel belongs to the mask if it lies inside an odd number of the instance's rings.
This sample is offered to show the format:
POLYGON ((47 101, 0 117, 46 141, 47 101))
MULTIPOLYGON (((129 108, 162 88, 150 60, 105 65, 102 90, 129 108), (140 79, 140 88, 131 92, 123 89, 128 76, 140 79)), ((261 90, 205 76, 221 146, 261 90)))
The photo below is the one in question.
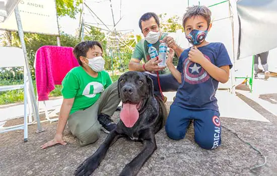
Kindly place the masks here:
MULTIPOLYGON (((152 45, 157 49, 158 52, 159 52, 159 46, 161 44, 160 40, 163 40, 163 38, 167 35, 168 35, 168 33, 163 33, 162 36, 161 36, 161 39, 159 39, 157 43, 152 45)), ((138 59, 138 60, 144 59, 145 63, 147 61, 149 61, 150 60, 150 54, 148 52, 148 49, 149 49, 148 44, 149 43, 145 39, 142 39, 140 42, 138 42, 135 45, 135 48, 134 48, 134 51, 133 51, 133 54, 132 54, 131 58, 138 59)), ((177 64, 178 64, 178 57, 177 57, 176 54, 174 55, 174 58, 173 58, 173 64, 175 66, 177 66, 177 64)), ((159 74, 165 74, 165 73, 170 73, 170 70, 167 67, 165 69, 159 71, 159 74)), ((155 74, 156 74, 156 72, 155 72, 155 74)))

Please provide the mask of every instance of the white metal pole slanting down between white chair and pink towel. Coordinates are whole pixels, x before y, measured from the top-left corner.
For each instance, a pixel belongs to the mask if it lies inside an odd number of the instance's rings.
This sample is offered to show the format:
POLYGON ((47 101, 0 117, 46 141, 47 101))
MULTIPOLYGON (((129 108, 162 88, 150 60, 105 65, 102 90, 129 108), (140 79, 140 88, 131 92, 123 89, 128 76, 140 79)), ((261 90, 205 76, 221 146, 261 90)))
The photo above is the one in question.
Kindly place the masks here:
POLYGON ((30 66, 28 63, 27 50, 26 50, 26 45, 25 45, 25 41, 24 41, 24 32, 23 32, 23 28, 22 28, 22 23, 21 23, 18 6, 15 8, 15 16, 16 16, 16 22, 17 22, 17 27, 18 27, 18 34, 19 34, 19 38, 21 41, 21 46, 22 46, 22 50, 23 50, 24 58, 25 58, 27 77, 29 80, 28 81, 28 84, 29 84, 28 91, 29 91, 29 95, 30 95, 30 99, 31 99, 32 111, 34 113, 35 119, 37 120, 37 133, 40 133, 44 130, 42 130, 42 128, 40 126, 40 119, 39 119, 39 114, 38 114, 36 98, 35 98, 34 85, 33 85, 32 76, 31 76, 31 72, 30 72, 30 66))

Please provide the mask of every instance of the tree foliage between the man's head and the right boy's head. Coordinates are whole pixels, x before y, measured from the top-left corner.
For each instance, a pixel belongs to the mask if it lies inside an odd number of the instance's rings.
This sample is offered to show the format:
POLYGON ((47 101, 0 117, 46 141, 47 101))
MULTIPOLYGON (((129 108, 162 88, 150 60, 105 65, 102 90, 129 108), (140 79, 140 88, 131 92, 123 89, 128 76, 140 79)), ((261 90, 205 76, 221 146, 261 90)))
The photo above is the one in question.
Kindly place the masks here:
POLYGON ((184 32, 183 26, 181 25, 181 18, 178 16, 173 16, 165 20, 166 13, 160 14, 160 28, 164 32, 176 32, 178 29, 181 29, 184 32))

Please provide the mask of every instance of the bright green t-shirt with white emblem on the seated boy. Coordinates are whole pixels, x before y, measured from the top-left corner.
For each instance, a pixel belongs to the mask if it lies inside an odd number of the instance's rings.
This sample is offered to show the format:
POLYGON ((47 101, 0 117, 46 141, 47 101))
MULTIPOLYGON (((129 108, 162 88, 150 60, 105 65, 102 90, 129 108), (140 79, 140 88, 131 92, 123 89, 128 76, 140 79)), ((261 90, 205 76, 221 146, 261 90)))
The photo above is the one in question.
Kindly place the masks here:
POLYGON ((112 80, 106 71, 90 76, 81 66, 71 69, 62 80, 61 94, 64 99, 75 98, 70 114, 92 106, 112 80))

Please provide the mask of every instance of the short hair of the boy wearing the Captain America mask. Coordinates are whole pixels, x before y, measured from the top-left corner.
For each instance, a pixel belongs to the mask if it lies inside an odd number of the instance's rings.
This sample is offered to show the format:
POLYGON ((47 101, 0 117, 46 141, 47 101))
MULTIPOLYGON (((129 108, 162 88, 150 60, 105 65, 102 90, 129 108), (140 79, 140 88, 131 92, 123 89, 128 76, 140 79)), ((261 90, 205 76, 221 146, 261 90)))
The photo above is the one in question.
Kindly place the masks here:
POLYGON ((196 16, 202 16, 207 21, 207 25, 209 28, 209 25, 211 23, 212 12, 210 11, 210 9, 208 9, 205 6, 194 5, 191 7, 187 7, 186 13, 183 16, 184 29, 185 29, 185 23, 186 23, 187 19, 196 17, 196 16))

